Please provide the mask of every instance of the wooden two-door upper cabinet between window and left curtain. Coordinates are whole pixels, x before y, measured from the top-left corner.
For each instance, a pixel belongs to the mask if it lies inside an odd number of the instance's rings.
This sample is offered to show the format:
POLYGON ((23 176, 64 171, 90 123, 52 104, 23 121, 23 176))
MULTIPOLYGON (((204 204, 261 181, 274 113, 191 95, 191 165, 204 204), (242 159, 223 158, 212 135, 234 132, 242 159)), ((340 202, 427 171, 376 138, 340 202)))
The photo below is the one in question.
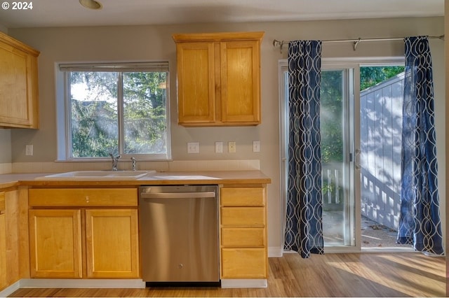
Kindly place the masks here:
POLYGON ((173 34, 178 123, 259 125, 263 32, 173 34))

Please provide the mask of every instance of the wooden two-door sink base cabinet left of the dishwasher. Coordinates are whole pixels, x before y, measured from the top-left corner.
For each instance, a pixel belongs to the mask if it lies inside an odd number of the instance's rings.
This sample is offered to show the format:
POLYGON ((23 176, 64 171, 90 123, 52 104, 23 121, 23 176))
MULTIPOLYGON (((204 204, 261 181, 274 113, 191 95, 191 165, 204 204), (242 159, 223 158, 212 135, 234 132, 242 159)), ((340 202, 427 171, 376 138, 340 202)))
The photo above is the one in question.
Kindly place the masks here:
POLYGON ((138 278, 137 204, 137 189, 30 189, 32 278, 138 278))

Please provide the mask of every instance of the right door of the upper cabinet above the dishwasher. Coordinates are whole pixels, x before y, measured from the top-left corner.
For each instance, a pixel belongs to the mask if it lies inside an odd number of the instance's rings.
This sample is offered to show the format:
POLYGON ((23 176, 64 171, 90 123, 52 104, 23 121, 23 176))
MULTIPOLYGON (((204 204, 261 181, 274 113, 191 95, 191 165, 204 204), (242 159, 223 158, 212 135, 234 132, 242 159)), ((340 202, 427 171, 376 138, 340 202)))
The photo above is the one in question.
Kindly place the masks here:
POLYGON ((222 122, 260 123, 260 42, 222 41, 222 122))

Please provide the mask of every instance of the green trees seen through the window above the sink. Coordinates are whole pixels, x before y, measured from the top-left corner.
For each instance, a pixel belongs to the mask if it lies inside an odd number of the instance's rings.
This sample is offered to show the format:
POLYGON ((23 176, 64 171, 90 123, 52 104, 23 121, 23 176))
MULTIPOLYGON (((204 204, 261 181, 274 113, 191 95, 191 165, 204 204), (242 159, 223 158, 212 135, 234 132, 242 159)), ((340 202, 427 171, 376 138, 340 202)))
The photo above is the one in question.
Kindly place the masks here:
POLYGON ((70 73, 72 157, 165 153, 167 76, 165 72, 70 73), (123 123, 123 152, 119 152, 119 123, 123 123))

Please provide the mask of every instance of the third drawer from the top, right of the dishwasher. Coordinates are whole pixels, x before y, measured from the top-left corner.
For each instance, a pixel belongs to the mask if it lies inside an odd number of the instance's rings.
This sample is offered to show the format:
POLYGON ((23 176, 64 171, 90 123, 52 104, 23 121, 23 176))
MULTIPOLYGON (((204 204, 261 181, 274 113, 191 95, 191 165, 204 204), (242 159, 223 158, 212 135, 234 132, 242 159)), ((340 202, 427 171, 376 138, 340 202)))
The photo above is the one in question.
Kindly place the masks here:
POLYGON ((224 227, 222 228, 222 246, 227 248, 263 248, 265 229, 262 227, 224 227))

